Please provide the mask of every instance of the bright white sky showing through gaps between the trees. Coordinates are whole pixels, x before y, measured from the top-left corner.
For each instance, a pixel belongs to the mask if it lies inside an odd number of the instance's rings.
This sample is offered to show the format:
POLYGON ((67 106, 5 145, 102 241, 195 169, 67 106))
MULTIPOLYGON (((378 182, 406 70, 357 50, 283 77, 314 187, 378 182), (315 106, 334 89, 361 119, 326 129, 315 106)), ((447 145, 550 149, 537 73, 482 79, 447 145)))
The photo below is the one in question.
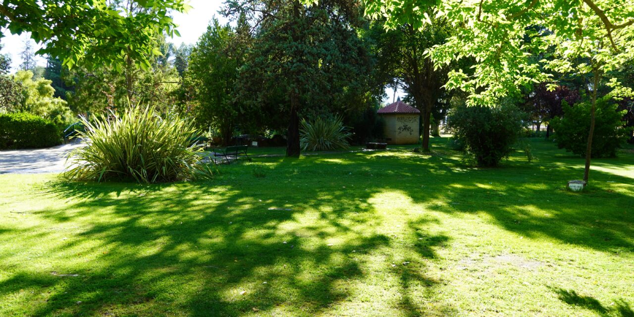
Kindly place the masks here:
MULTIPOLYGON (((174 13, 174 23, 178 24, 178 32, 180 37, 174 36, 173 39, 168 41, 173 42, 176 46, 181 43, 196 44, 198 37, 200 37, 205 30, 209 21, 216 16, 221 24, 227 23, 228 20, 224 16, 220 15, 218 11, 223 7, 223 0, 190 0, 190 6, 192 7, 187 13, 174 13)), ((3 44, 3 49, 0 53, 8 54, 11 56, 11 71, 15 72, 18 69, 18 65, 22 63, 20 59, 20 51, 24 48, 25 41, 31 41, 34 44, 35 50, 39 49, 33 40, 29 39, 30 34, 22 34, 21 36, 11 35, 8 30, 3 30, 5 37, 0 39, 0 43, 3 44)), ((42 56, 36 56, 37 65, 46 66, 46 58, 42 56)), ((389 101, 392 101, 394 91, 387 89, 385 91, 389 96, 389 101)), ((401 96, 403 95, 399 92, 401 96)), ((387 101, 387 100, 386 100, 387 101)))

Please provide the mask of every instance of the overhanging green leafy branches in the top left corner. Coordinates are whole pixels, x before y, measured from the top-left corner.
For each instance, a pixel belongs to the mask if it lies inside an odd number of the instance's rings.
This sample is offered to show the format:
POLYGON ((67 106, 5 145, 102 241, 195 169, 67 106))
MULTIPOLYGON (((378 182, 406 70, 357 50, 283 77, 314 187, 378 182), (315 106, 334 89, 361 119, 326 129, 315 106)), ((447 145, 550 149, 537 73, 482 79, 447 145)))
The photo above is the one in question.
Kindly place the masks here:
POLYGON ((132 61, 149 69, 160 55, 153 37, 178 35, 169 13, 188 8, 184 0, 7 0, 0 3, 0 29, 30 32, 46 46, 36 53, 58 57, 68 68, 112 65, 122 72, 132 61))

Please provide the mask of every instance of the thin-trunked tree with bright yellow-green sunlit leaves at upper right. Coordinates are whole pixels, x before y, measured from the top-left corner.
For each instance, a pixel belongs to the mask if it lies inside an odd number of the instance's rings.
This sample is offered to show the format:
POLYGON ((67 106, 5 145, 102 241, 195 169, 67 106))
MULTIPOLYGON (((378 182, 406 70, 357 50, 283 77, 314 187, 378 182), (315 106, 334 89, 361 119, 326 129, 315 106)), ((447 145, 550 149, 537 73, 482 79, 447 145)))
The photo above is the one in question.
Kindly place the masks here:
POLYGON ((474 58, 474 73, 449 73, 448 88, 467 91, 472 105, 495 105, 503 96, 517 94, 533 82, 548 82, 553 74, 576 73, 590 78, 592 102, 586 166, 590 172, 598 88, 607 83, 612 93, 627 95, 609 72, 632 60, 634 4, 622 0, 363 0, 366 13, 386 18, 386 27, 411 23, 416 29, 431 18, 446 18, 455 36, 430 50, 436 63, 474 58), (432 16, 429 12, 433 12, 432 16), (538 25, 539 28, 535 26, 538 25), (530 41, 527 41, 530 39, 530 41), (541 66, 531 52, 550 55, 541 66), (606 74, 608 74, 606 76, 606 74))

